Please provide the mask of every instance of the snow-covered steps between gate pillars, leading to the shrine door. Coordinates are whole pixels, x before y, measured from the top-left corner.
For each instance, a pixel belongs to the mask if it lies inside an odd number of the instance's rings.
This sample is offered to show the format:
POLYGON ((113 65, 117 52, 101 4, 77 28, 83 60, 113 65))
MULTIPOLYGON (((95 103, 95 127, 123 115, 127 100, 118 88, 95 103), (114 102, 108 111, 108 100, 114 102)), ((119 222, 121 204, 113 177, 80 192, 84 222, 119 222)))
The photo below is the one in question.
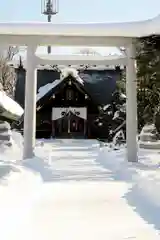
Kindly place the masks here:
POLYGON ((53 140, 37 143, 37 159, 26 162, 40 169, 44 181, 103 181, 110 172, 96 161, 99 157, 96 140, 53 140))

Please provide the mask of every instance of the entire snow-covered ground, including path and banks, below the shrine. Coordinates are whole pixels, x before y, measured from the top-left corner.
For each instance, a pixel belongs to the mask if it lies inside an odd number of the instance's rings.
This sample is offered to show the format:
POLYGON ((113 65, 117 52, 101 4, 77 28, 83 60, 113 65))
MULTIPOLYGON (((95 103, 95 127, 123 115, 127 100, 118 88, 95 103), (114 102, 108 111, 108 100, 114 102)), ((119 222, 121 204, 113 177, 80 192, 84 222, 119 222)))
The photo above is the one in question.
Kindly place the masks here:
POLYGON ((2 239, 159 239, 157 152, 137 164, 94 140, 39 140, 23 162, 20 152, 0 152, 2 239))

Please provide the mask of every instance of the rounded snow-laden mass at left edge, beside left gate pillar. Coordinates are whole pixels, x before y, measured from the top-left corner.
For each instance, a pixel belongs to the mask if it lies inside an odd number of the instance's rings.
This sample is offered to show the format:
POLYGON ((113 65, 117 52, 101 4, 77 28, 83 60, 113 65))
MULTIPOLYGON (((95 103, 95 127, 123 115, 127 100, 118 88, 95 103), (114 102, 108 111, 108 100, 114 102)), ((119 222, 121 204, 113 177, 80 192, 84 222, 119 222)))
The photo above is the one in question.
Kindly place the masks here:
POLYGON ((23 108, 6 95, 4 91, 0 91, 0 115, 17 120, 24 113, 23 108))

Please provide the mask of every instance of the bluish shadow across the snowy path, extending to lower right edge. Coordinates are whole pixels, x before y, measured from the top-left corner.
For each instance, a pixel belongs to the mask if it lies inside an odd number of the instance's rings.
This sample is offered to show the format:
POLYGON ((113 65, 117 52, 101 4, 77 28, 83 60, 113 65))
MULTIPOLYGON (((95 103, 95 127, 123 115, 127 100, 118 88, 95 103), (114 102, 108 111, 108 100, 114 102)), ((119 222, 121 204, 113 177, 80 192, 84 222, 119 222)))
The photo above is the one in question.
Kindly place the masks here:
POLYGON ((137 171, 156 170, 158 165, 147 166, 145 163, 127 163, 124 161, 123 151, 108 151, 105 148, 89 147, 82 149, 81 156, 78 155, 79 148, 57 148, 48 160, 36 157, 26 160, 24 166, 32 171, 38 172, 44 182, 59 181, 121 181, 130 184, 128 192, 123 196, 127 204, 136 211, 141 218, 160 230, 159 211, 149 198, 143 195, 144 190, 139 187, 137 171), (88 151, 88 153, 86 152, 88 151), (68 154, 70 151, 70 154, 68 154), (62 154, 63 153, 63 154, 62 154), (65 161, 70 160, 69 166, 65 161))

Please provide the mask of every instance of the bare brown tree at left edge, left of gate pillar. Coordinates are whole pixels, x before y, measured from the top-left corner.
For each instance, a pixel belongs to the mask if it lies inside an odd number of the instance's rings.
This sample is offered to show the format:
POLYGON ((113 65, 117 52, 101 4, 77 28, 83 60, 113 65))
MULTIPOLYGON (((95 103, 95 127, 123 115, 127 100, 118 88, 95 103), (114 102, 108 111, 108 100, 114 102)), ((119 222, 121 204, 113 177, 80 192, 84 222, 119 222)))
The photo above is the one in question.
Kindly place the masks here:
POLYGON ((9 46, 0 53, 0 89, 6 92, 11 98, 14 97, 16 73, 13 65, 9 64, 18 53, 16 46, 9 46))

